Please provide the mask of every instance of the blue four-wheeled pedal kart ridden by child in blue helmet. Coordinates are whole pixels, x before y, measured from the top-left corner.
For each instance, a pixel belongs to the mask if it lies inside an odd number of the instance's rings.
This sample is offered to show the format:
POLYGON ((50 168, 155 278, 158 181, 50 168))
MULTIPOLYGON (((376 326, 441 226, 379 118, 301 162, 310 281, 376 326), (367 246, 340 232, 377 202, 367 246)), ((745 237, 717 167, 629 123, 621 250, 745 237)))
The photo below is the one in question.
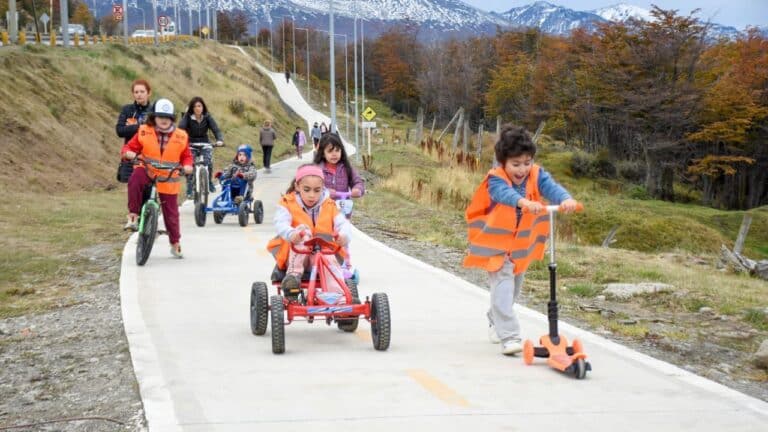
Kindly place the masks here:
POLYGON ((221 193, 213 200, 211 206, 199 202, 195 204, 195 223, 197 226, 205 226, 208 213, 213 213, 213 221, 220 224, 224 216, 236 214, 240 226, 248 225, 248 215, 253 213, 253 220, 257 224, 264 221, 264 205, 260 200, 254 200, 248 188, 248 182, 239 177, 220 179, 221 193), (233 196, 233 189, 239 193, 233 196))

